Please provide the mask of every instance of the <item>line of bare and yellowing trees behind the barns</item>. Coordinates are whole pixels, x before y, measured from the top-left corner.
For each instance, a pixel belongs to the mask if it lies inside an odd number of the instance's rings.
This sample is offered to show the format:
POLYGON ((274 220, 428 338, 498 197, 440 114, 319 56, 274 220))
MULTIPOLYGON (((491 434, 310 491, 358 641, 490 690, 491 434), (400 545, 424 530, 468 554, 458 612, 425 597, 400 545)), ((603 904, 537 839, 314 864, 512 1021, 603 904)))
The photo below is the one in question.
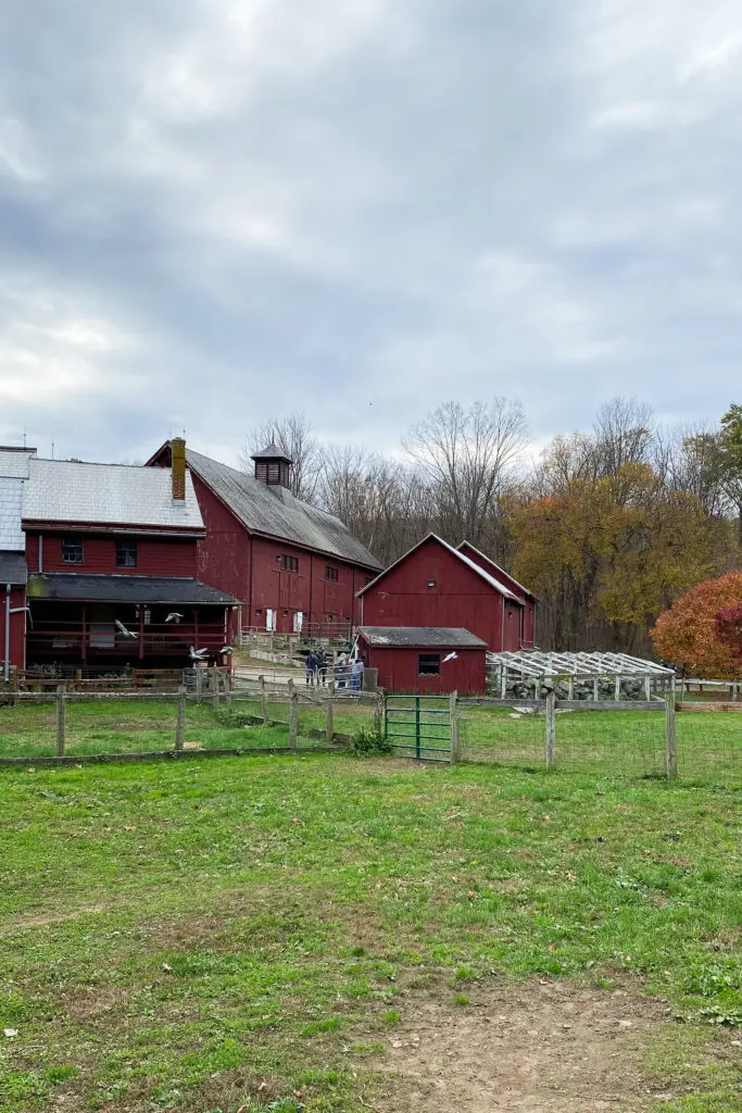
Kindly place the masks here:
POLYGON ((447 402, 399 457, 325 445, 301 414, 253 431, 294 460, 293 491, 340 518, 384 563, 429 531, 466 538, 538 597, 537 642, 651 652, 647 630, 694 584, 740 568, 742 406, 716 426, 663 429, 614 398, 586 433, 536 459, 522 406, 447 402))

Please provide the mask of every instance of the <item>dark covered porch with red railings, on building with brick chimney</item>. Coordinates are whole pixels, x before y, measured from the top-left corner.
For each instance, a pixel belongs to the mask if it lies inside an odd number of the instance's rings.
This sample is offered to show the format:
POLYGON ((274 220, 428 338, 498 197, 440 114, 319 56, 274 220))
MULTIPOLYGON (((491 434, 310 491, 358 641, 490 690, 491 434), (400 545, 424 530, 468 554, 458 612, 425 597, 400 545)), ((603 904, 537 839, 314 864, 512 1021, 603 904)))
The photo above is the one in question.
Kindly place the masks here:
POLYGON ((197 580, 135 575, 30 575, 27 666, 181 668, 191 647, 224 664, 235 601, 197 580))

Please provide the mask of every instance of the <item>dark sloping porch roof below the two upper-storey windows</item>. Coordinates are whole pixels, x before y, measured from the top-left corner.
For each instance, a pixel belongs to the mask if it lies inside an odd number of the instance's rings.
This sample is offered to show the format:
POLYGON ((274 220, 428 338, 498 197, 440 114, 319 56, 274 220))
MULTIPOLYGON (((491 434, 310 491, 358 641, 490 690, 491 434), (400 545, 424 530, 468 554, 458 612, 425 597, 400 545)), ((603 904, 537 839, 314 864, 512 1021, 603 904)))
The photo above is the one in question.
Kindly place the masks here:
POLYGON ((198 580, 165 575, 78 575, 73 572, 32 572, 29 599, 69 599, 100 603, 237 603, 198 580))

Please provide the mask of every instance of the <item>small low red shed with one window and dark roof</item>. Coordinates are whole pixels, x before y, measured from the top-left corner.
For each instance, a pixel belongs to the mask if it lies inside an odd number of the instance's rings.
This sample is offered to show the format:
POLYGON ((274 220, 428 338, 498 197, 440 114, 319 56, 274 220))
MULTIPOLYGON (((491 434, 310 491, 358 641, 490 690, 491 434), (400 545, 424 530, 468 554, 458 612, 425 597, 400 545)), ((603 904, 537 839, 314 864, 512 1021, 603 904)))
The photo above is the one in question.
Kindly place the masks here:
POLYGON ((388 692, 483 696, 487 644, 451 627, 362 627, 359 650, 388 692))

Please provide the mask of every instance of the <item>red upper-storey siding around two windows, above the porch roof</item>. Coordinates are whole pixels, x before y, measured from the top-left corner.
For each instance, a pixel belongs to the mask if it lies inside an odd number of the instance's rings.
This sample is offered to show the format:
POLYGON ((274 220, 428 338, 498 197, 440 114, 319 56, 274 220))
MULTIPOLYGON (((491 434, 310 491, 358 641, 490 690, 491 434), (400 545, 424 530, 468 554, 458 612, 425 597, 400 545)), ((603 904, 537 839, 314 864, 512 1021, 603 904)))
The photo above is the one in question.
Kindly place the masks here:
MULTIPOLYGON (((137 567, 118 568, 116 564, 117 541, 122 536, 76 533, 82 539, 81 564, 66 564, 62 561, 62 534, 44 533, 42 545, 43 572, 81 572, 88 575, 176 575, 196 577, 196 541, 194 539, 167 539, 138 536, 137 567)), ((70 536, 70 534, 66 534, 70 536)), ((29 572, 39 571, 39 536, 27 536, 27 561, 29 572)))

